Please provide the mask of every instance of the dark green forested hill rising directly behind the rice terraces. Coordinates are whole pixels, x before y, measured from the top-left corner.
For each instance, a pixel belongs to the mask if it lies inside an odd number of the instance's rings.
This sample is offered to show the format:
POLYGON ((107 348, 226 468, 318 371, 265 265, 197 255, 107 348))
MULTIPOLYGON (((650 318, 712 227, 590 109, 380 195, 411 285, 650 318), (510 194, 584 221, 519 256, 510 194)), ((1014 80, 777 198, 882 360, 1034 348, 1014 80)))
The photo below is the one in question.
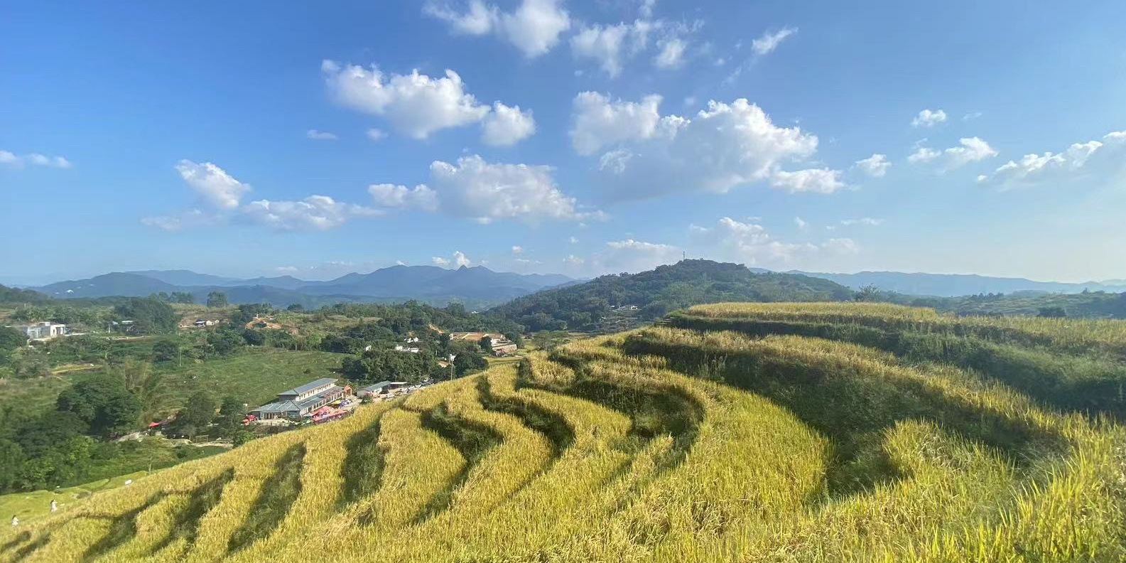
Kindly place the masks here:
POLYGON ((847 301, 852 291, 799 274, 753 272, 738 263, 681 260, 638 274, 608 275, 540 291, 491 310, 527 330, 598 330, 617 307, 636 306, 640 320, 701 303, 725 301, 847 301), (611 309, 614 307, 614 309, 611 309))

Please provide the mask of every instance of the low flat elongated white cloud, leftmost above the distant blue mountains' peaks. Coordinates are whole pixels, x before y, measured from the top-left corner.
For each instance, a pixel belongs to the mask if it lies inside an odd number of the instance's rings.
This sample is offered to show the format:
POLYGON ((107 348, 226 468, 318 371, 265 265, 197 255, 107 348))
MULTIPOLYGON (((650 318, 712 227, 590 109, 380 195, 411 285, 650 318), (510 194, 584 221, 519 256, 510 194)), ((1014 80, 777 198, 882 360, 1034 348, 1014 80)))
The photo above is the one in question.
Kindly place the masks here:
POLYGON ((309 196, 298 202, 250 202, 240 209, 248 221, 283 231, 323 231, 345 224, 351 217, 369 217, 383 212, 372 207, 337 202, 329 196, 309 196))

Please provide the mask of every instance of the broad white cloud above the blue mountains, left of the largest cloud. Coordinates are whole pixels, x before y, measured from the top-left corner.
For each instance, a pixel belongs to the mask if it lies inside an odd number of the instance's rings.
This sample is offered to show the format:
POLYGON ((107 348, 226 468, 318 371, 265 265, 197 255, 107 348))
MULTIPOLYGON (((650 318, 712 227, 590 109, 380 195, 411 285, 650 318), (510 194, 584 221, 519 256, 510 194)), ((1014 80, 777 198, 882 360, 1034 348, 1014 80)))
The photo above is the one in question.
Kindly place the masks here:
POLYGON ((545 166, 489 163, 474 154, 456 164, 434 161, 430 185, 441 195, 447 213, 481 223, 605 217, 601 212, 580 212, 575 199, 555 186, 552 171, 545 166))

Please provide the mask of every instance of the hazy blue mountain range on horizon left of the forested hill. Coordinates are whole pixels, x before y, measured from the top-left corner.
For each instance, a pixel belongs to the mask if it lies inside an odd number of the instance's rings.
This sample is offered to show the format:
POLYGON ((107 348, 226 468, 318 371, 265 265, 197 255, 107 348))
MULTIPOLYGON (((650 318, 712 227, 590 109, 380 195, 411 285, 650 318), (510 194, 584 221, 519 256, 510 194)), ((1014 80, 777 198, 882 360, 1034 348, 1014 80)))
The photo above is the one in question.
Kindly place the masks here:
POLYGON ((231 303, 275 306, 418 300, 435 305, 459 302, 471 307, 485 307, 570 283, 574 280, 562 275, 500 272, 483 266, 463 266, 456 270, 436 266, 392 266, 325 282, 292 276, 240 279, 190 270, 115 271, 32 289, 56 298, 143 297, 161 292, 188 292, 197 303, 203 303, 208 293, 218 291, 225 293, 231 303))

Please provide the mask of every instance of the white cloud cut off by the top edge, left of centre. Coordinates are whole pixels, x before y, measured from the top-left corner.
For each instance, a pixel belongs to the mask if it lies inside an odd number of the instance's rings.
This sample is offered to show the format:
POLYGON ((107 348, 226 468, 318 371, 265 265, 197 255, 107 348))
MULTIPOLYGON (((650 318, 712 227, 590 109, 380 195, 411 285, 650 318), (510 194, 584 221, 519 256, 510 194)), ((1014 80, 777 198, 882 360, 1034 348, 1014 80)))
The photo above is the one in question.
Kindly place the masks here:
POLYGON ((561 5, 561 0, 522 0, 516 10, 507 12, 471 0, 464 11, 437 2, 428 2, 422 11, 446 21, 455 33, 493 33, 530 59, 551 51, 560 35, 571 28, 571 17, 561 5))

